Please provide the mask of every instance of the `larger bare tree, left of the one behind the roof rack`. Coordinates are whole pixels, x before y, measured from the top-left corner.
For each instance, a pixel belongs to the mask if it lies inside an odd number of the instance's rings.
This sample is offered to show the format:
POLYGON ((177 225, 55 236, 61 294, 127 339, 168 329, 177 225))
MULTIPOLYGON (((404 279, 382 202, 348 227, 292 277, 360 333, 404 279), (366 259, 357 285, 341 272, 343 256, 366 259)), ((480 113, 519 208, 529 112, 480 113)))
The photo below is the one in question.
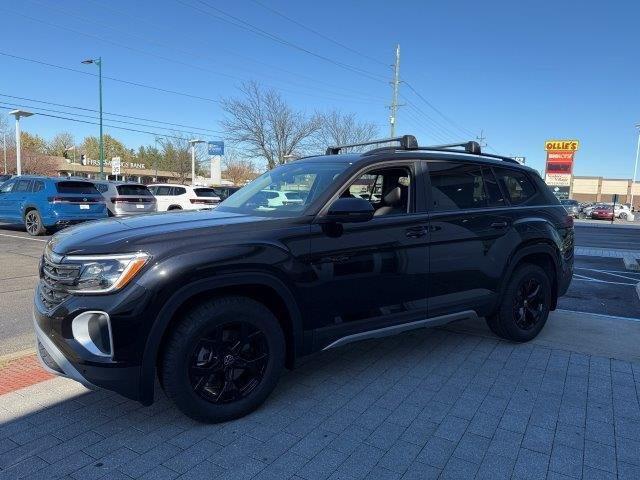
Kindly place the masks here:
POLYGON ((268 168, 300 155, 320 128, 317 115, 293 110, 274 90, 256 82, 240 88, 242 98, 222 100, 222 125, 231 142, 246 148, 252 158, 263 158, 268 168))

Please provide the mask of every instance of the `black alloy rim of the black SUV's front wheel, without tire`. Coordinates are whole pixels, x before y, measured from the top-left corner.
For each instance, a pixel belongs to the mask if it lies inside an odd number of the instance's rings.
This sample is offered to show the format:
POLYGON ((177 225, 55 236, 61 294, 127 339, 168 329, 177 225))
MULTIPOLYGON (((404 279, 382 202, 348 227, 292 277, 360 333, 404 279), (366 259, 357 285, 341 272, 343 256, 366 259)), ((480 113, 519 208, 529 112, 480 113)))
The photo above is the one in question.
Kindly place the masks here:
POLYGON ((235 402, 260 385, 268 362, 263 331, 247 322, 219 325, 196 344, 189 361, 189 382, 208 402, 235 402))

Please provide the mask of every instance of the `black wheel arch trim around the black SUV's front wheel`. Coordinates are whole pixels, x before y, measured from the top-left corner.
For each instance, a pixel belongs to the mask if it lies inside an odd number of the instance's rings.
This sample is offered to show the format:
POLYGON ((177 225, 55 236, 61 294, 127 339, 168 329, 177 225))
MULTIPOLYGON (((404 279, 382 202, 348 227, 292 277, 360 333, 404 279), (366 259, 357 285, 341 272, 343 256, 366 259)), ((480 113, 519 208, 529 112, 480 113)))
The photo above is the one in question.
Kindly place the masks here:
POLYGON ((140 373, 141 402, 153 402, 154 383, 159 356, 171 325, 182 312, 204 299, 215 296, 246 296, 269 308, 283 328, 286 343, 286 366, 293 368, 302 351, 303 328, 300 310, 291 290, 268 273, 228 274, 184 285, 165 302, 147 336, 140 373))

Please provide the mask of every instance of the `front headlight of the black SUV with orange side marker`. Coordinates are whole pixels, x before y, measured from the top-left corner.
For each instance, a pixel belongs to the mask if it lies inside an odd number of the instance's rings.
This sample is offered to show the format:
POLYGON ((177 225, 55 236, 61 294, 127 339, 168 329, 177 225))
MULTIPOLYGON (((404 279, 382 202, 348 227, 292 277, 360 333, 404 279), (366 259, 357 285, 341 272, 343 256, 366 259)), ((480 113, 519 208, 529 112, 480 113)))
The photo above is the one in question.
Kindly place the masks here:
POLYGON ((77 284, 70 293, 109 293, 127 285, 149 259, 146 253, 65 257, 65 264, 79 264, 77 284))

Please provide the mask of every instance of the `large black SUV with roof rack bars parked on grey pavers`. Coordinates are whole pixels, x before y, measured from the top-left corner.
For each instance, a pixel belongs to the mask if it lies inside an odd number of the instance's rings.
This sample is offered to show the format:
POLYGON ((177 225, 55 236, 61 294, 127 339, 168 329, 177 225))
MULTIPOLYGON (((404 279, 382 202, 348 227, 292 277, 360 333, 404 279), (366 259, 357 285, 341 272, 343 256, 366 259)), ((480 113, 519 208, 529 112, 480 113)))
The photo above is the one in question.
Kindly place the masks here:
POLYGON ((214 211, 58 233, 35 293, 44 365, 145 405, 157 377, 217 422, 318 350, 478 317, 534 338, 571 280, 572 218, 534 170, 475 142, 393 140, 282 165, 214 211))

